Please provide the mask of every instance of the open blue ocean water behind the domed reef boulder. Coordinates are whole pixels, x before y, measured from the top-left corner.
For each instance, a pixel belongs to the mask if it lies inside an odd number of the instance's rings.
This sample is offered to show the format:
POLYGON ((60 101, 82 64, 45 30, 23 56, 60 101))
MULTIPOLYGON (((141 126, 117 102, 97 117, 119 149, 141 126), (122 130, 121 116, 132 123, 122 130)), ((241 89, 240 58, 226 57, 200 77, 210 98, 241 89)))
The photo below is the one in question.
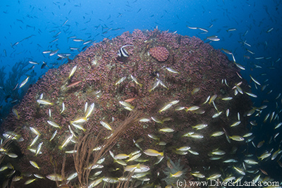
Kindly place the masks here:
MULTIPOLYGON (((30 84, 34 84, 49 68, 68 62, 66 58, 60 59, 58 54, 72 59, 92 42, 111 39, 125 31, 157 27, 203 40, 218 36, 219 41, 205 42, 211 42, 215 49, 228 49, 233 53, 236 63, 245 67, 240 73, 250 81, 252 93, 257 95, 257 98, 252 98, 253 106, 267 106, 252 117, 257 124, 252 130, 255 136, 252 142, 257 146, 264 141, 264 145, 257 150, 250 142, 248 149, 256 156, 264 151, 274 153, 281 148, 282 140, 280 134, 274 139, 281 131, 281 128, 274 130, 281 122, 282 106, 279 95, 282 90, 281 8, 278 0, 1 1, 1 120, 20 102, 30 84), (83 41, 75 42, 73 39, 83 41), (88 40, 91 42, 83 44, 88 40), (43 54, 44 51, 56 50, 54 56, 43 54), (260 85, 255 84, 250 75, 260 85), (17 84, 27 76, 30 76, 27 84, 19 89, 17 84), (270 122, 272 113, 276 118, 270 122), (264 123, 267 114, 270 115, 264 123)), ((231 55, 227 56, 233 60, 231 55)), ((275 160, 269 158, 262 163, 262 169, 276 180, 281 178, 279 173, 282 174, 279 160, 281 154, 275 160)))

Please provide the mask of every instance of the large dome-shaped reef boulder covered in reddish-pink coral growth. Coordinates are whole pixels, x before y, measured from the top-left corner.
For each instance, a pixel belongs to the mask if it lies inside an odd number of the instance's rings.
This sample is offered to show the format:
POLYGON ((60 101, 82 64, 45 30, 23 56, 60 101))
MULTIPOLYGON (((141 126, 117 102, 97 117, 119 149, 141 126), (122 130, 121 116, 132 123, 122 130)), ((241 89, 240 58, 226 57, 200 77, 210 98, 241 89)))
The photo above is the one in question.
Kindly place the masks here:
MULTIPOLYGON (((234 94, 237 89, 233 87, 239 87, 239 83, 243 91, 250 90, 247 82, 238 77, 239 71, 221 51, 196 37, 159 30, 125 32, 114 39, 94 43, 70 63, 50 69, 15 106, 20 117, 8 115, 1 132, 20 127, 23 142, 17 142, 22 153, 15 165, 17 172, 46 177, 53 174, 54 169, 59 173, 64 168, 67 177, 75 172, 71 152, 75 152, 74 142, 85 135, 83 130, 91 132, 92 137, 103 130, 99 135, 109 137, 134 109, 142 117, 123 130, 111 152, 123 153, 128 158, 132 156, 130 153, 140 152, 140 158, 128 160, 126 164, 145 165, 151 175, 136 183, 146 180, 146 183, 165 187, 166 182, 161 180, 166 177, 163 173, 166 157, 171 161, 180 159, 179 163, 186 169, 183 177, 189 180, 193 178, 191 169, 209 175, 202 167, 210 166, 211 172, 224 169, 227 164, 222 161, 234 157, 234 148, 242 142, 226 137, 247 132, 248 120, 244 114, 251 106, 249 96, 234 94), (119 61, 117 52, 125 44, 133 46, 126 49, 128 57, 119 61), (167 52, 161 59, 150 56, 149 51, 155 46, 166 46, 169 56, 167 52), (159 63, 159 60, 165 61, 159 63), (75 65, 75 73, 71 73, 75 65), (69 87, 70 84, 73 86, 69 87), (90 104, 94 104, 91 115, 88 114, 90 104), (226 110, 230 111, 228 115, 226 110), (238 114, 240 125, 231 127, 238 121, 238 114), (199 124, 208 126, 196 129, 194 126, 199 124), (39 132, 39 137, 30 127, 39 132), (219 131, 226 135, 211 137, 219 131), (35 144, 30 146, 36 137, 35 144), (68 144, 64 145, 67 140, 68 144), (189 149, 179 149, 183 146, 189 149), (164 159, 158 161, 155 156, 143 153, 146 149, 155 150, 156 155, 164 153, 164 159), (215 149, 226 154, 211 161, 208 154, 215 149), (34 151, 38 151, 37 154, 34 151), (30 161, 35 161, 40 169, 30 165, 30 161)), ((101 147, 97 144, 97 148, 101 147)), ((98 177, 116 181, 128 175, 128 171, 123 174, 125 161, 114 159, 109 152, 104 153, 104 158, 104 168, 98 177)), ((99 170, 93 169, 92 173, 99 170)), ((23 180, 15 184, 20 187, 28 179, 30 177, 23 176, 23 180)), ((38 178, 31 185, 42 184, 54 187, 54 182, 38 178)), ((78 178, 69 184, 78 184, 78 178)))

